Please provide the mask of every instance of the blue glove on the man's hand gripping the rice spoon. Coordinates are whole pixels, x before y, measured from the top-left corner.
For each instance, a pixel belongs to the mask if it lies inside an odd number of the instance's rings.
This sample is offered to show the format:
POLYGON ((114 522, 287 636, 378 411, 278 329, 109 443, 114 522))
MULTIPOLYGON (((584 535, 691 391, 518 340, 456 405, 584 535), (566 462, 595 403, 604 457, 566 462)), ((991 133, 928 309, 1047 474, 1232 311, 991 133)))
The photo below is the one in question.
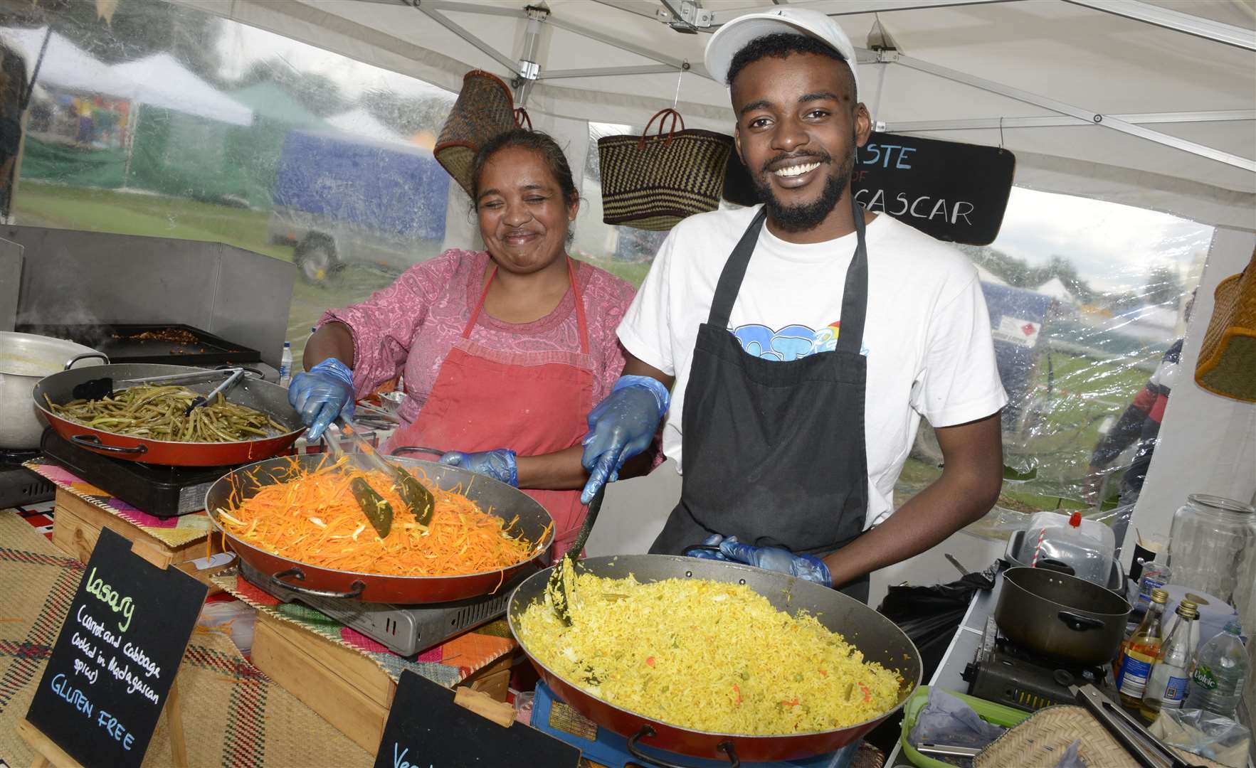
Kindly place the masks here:
POLYGON ((624 462, 649 448, 671 394, 652 376, 619 376, 605 400, 589 413, 580 463, 589 471, 580 503, 589 503, 608 482, 619 479, 624 462))

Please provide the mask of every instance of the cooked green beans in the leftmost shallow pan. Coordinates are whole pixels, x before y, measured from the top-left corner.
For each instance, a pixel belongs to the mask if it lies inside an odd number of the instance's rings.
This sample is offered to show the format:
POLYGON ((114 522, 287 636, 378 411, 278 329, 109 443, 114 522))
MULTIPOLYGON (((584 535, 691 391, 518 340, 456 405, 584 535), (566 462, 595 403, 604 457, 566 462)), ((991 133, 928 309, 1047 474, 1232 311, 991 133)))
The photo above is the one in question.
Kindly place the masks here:
POLYGON ((185 414, 198 397, 186 387, 144 384, 116 392, 99 400, 70 400, 57 405, 45 394, 54 414, 99 429, 149 440, 176 443, 235 443, 284 434, 288 428, 260 410, 229 403, 219 394, 185 414))

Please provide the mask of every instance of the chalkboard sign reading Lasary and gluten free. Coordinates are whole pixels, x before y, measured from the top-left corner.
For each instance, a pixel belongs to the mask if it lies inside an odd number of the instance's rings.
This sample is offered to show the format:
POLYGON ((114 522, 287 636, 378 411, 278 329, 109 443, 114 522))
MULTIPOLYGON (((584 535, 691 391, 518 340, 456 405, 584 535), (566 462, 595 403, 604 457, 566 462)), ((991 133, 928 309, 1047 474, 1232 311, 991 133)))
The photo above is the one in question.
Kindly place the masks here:
POLYGON ((26 719, 84 765, 139 765, 207 591, 103 528, 26 719))

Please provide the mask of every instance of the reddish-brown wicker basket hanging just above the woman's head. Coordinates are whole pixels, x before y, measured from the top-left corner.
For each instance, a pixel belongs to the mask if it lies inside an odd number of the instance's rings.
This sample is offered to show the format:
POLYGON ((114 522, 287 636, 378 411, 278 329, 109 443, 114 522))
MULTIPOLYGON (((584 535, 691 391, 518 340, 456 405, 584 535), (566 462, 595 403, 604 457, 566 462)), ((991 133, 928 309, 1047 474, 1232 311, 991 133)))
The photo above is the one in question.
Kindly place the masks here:
POLYGON ((474 69, 450 110, 432 153, 453 181, 471 195, 471 161, 489 139, 515 125, 515 99, 500 78, 474 69))

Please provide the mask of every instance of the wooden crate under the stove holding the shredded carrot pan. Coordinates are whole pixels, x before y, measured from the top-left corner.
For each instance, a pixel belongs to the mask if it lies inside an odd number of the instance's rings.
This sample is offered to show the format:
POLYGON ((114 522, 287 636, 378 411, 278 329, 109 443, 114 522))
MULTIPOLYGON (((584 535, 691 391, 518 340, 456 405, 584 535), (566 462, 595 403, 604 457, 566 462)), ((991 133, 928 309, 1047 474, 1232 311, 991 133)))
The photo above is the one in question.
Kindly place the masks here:
MULTIPOLYGON (((512 654, 461 683, 506 700, 512 654)), ((327 637, 257 611, 252 664, 374 754, 397 684, 371 659, 327 637)))

